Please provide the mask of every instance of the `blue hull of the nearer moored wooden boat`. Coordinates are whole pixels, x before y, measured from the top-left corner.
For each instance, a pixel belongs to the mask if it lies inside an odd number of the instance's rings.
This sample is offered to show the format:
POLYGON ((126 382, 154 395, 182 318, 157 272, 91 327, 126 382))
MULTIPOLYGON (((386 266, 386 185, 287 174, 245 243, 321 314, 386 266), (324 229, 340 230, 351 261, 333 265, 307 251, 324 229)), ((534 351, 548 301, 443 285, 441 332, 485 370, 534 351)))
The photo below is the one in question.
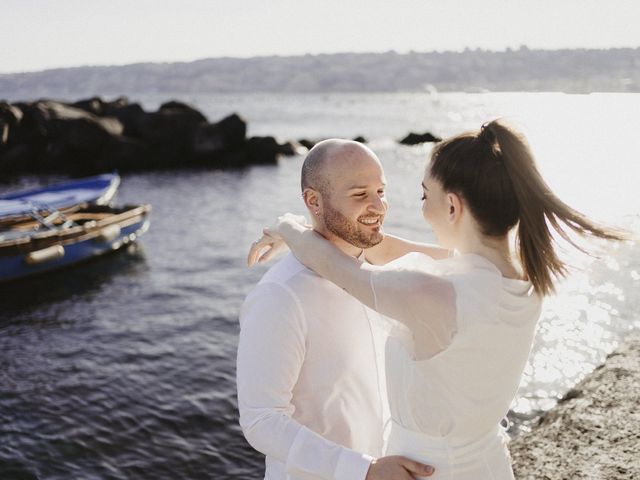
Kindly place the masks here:
POLYGON ((110 238, 103 236, 81 237, 51 245, 47 249, 57 254, 52 255, 49 259, 44 258, 35 263, 30 262, 29 254, 34 252, 0 257, 0 282, 56 270, 118 250, 135 242, 148 228, 149 218, 147 215, 143 215, 135 223, 120 227, 119 231, 114 232, 110 238), (60 255, 60 253, 62 254, 60 255))

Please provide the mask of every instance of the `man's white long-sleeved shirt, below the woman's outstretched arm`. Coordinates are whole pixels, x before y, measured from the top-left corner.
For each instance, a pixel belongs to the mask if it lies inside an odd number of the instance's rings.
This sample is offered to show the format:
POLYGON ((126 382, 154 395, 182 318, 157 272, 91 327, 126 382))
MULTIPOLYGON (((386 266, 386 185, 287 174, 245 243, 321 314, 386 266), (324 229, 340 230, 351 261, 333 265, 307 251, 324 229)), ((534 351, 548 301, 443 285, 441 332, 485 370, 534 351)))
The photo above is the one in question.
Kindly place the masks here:
POLYGON ((364 479, 388 416, 379 315, 289 254, 240 312, 240 425, 265 479, 364 479))

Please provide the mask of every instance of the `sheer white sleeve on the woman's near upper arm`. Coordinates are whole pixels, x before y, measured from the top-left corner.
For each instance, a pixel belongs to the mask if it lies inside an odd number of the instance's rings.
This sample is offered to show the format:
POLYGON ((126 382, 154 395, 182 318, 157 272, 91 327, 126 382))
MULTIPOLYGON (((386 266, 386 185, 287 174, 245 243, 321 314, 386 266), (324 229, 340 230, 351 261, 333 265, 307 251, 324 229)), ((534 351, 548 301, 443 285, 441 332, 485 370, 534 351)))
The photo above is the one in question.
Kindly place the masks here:
POLYGON ((371 271, 375 310, 413 333, 416 359, 430 358, 450 345, 458 330, 456 291, 425 255, 405 255, 371 271))

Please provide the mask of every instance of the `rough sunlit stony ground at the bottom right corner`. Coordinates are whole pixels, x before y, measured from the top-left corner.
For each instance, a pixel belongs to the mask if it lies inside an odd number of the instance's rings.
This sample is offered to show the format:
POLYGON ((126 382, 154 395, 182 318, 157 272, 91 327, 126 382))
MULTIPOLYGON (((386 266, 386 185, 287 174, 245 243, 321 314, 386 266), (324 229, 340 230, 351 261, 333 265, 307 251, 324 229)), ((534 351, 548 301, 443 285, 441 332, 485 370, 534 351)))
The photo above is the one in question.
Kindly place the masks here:
POLYGON ((640 335, 510 449, 518 480, 640 479, 640 335))

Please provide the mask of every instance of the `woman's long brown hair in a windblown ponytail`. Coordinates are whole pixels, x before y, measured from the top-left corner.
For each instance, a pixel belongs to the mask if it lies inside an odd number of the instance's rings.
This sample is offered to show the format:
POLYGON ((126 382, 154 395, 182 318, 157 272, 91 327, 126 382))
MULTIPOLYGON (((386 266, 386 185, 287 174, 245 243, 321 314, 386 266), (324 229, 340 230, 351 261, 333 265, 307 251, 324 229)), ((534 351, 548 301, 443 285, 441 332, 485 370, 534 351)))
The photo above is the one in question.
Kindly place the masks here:
POLYGON ((462 196, 484 235, 504 236, 517 225, 524 273, 542 295, 553 292, 554 278, 567 273, 551 227, 583 252, 568 230, 582 236, 624 238, 620 231, 597 225, 562 202, 540 175, 524 135, 501 119, 437 144, 430 174, 445 191, 462 196))

